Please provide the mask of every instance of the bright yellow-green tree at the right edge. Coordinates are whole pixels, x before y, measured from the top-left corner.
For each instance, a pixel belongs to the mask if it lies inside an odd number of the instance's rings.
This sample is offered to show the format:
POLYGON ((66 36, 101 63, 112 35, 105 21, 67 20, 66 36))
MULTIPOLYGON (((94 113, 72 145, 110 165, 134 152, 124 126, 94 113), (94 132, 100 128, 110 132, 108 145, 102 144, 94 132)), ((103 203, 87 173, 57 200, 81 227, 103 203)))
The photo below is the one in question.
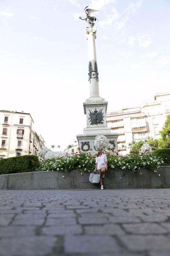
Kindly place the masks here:
POLYGON ((162 131, 159 133, 161 135, 161 139, 159 140, 159 148, 170 148, 170 115, 167 116, 162 131))

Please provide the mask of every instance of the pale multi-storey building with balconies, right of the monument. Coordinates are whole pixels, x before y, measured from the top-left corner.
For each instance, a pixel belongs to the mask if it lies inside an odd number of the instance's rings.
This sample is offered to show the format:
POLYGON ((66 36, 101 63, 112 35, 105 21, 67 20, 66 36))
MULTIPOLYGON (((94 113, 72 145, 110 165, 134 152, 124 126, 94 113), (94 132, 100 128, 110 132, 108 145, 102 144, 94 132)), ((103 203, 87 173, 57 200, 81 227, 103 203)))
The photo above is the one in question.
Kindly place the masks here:
POLYGON ((153 100, 143 102, 142 106, 123 108, 108 112, 106 120, 112 132, 118 132, 118 150, 129 153, 128 144, 132 141, 159 139, 167 115, 170 114, 170 92, 159 93, 153 100))

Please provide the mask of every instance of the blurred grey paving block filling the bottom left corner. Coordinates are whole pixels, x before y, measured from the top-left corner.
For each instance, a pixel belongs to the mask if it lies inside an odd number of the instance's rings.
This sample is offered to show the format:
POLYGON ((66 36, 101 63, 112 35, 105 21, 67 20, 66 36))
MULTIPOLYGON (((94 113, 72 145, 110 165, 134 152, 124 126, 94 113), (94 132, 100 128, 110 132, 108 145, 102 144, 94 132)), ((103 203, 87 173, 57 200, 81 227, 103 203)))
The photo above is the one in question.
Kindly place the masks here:
POLYGON ((0 240, 0 253, 2 256, 42 256, 52 252, 57 238, 45 237, 13 237, 0 240))

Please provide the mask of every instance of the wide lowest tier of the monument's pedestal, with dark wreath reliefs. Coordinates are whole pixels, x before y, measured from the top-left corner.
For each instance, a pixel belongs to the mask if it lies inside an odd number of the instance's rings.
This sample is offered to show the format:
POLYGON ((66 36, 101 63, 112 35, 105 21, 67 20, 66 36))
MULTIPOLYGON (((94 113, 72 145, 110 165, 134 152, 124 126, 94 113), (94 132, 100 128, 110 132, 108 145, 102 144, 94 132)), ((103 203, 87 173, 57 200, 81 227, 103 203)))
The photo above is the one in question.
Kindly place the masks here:
POLYGON ((92 133, 92 134, 78 134, 77 140, 79 147, 81 148, 82 152, 86 152, 86 149, 90 150, 92 153, 96 153, 96 150, 94 148, 94 142, 95 142, 95 137, 97 135, 104 135, 107 137, 110 143, 110 147, 114 147, 115 150, 118 150, 118 145, 117 145, 117 138, 118 138, 118 133, 92 133), (91 150, 92 149, 92 150, 91 150))

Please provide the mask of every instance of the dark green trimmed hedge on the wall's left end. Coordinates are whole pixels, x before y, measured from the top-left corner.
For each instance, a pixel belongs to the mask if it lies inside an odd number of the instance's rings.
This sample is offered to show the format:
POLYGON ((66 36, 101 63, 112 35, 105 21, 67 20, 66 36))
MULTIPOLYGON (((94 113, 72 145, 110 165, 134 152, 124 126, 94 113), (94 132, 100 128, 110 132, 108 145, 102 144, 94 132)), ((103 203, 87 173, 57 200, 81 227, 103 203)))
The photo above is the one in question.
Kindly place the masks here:
POLYGON ((35 172, 40 166, 37 156, 16 156, 0 160, 0 174, 35 172))

